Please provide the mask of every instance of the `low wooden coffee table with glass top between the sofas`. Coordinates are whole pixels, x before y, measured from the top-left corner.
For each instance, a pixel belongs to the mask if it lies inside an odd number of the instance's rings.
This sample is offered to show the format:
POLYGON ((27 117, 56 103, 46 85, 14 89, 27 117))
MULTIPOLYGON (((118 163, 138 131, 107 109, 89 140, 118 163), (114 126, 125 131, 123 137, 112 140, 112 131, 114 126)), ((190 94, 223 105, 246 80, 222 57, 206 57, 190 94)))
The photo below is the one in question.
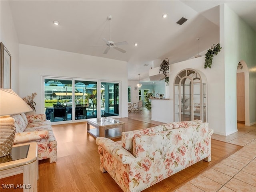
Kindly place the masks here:
POLYGON ((120 138, 124 132, 124 122, 106 117, 88 119, 87 132, 93 137, 120 138), (96 129, 90 129, 90 125, 96 129))

